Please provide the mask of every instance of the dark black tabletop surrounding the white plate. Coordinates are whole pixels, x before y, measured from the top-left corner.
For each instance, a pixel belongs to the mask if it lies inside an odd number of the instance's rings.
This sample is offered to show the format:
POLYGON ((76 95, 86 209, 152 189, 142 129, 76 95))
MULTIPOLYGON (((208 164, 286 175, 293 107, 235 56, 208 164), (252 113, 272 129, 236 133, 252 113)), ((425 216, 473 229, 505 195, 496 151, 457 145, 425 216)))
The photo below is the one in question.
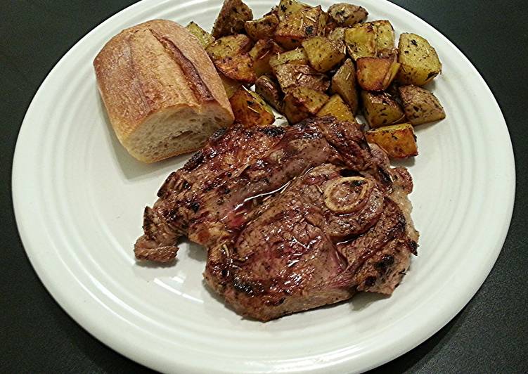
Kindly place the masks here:
MULTIPOLYGON (((517 193, 508 238, 477 295, 439 333, 374 371, 527 373, 528 212, 524 207, 528 205, 528 127, 523 110, 528 106, 528 88, 522 79, 528 66, 528 23, 524 1, 394 2, 451 39, 486 79, 501 105, 513 141, 517 193)), ((0 217, 6 224, 1 233, 0 372, 146 371, 91 337, 56 304, 25 255, 11 200, 13 151, 34 93, 77 40, 132 3, 0 1, 0 112, 4 118, 0 217)))

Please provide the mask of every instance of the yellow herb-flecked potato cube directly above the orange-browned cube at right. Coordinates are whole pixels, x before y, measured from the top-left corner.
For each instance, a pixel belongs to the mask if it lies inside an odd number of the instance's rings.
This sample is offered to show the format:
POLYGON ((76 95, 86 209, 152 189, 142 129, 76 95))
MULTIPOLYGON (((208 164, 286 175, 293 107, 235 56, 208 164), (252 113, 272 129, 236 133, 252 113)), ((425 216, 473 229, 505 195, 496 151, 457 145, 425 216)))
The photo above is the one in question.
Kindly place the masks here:
POLYGON ((375 57, 378 32, 372 23, 360 23, 345 30, 345 45, 349 55, 357 60, 361 57, 375 57))

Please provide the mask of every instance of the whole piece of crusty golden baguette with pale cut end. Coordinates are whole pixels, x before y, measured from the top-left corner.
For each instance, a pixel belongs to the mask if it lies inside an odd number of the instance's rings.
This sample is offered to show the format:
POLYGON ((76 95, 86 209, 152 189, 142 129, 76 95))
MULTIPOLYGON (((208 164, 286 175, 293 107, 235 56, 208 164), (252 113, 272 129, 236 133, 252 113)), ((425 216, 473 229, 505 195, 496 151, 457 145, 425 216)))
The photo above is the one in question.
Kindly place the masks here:
POLYGON ((140 161, 197 150, 233 122, 214 65, 176 22, 151 20, 123 30, 98 53, 94 67, 115 134, 140 161))

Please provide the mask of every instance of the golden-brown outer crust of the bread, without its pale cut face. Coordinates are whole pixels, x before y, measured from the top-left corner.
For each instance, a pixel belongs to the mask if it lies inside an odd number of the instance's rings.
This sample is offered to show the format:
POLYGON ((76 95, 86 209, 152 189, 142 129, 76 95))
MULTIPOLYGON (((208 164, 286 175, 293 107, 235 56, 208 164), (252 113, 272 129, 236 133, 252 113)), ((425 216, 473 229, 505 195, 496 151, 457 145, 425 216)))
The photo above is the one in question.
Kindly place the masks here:
POLYGON ((127 149, 131 134, 163 110, 200 113, 214 107, 224 122, 221 126, 233 122, 226 91, 209 56, 176 22, 150 20, 123 30, 101 49, 94 68, 112 127, 127 149))

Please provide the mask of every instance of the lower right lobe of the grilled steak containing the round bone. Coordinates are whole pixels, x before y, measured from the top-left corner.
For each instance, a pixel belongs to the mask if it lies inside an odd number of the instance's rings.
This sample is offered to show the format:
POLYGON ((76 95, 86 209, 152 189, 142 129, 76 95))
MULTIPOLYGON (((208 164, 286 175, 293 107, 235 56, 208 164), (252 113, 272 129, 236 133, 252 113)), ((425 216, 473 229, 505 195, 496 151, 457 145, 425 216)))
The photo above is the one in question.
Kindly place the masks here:
POLYGON ((356 290, 392 293, 416 250, 416 232, 375 180, 344 177, 345 170, 312 169, 267 201, 233 241, 211 247, 211 288, 240 314, 262 321, 339 302, 356 290))

